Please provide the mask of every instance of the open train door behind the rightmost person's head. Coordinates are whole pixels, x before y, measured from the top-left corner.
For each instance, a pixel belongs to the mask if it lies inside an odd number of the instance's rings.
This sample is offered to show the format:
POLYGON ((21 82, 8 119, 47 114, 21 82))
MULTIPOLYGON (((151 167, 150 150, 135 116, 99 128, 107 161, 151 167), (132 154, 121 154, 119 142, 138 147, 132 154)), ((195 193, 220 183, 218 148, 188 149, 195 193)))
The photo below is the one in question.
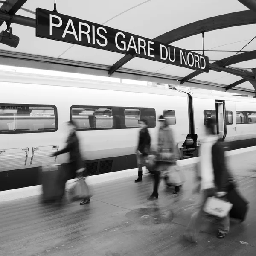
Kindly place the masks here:
POLYGON ((217 134, 220 135, 222 140, 225 139, 227 135, 227 126, 226 126, 226 115, 225 115, 225 101, 215 101, 216 108, 216 122, 217 122, 217 134))

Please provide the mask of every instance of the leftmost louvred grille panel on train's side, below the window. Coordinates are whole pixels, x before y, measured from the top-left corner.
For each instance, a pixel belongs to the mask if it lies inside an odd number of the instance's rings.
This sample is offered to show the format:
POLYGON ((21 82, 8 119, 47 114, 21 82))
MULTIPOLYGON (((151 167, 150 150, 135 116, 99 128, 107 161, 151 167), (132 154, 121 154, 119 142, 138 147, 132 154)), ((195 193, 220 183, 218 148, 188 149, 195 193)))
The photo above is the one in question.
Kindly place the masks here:
POLYGON ((0 171, 18 169, 26 166, 29 148, 13 148, 0 150, 0 171))

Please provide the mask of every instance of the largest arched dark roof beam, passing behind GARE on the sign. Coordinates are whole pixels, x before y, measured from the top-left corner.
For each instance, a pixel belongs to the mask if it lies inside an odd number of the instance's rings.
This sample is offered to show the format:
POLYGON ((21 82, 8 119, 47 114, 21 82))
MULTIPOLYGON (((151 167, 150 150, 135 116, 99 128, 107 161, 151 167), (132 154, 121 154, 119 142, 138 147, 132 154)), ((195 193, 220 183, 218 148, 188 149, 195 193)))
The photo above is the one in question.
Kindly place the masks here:
MULTIPOLYGON (((157 36, 153 40, 159 41, 164 44, 171 44, 183 38, 187 38, 193 35, 198 35, 201 32, 209 32, 217 29, 224 29, 233 26, 242 26, 256 23, 255 12, 251 10, 232 12, 224 15, 210 17, 204 20, 198 20, 196 22, 181 26, 177 29, 173 29, 160 36, 157 36)), ((119 61, 117 61, 110 68, 108 74, 113 74, 116 70, 131 61, 134 56, 125 55, 119 61)))

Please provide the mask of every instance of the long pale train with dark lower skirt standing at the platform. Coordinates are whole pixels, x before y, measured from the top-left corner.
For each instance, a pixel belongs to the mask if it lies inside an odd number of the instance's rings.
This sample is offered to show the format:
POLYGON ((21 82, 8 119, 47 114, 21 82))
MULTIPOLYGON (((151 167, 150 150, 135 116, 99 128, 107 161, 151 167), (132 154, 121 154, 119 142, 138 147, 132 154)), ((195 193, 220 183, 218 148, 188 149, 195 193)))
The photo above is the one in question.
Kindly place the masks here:
POLYGON ((253 98, 17 72, 1 72, 0 91, 0 191, 38 185, 42 165, 68 162, 67 154, 51 155, 65 146, 69 120, 86 175, 135 168, 138 122, 148 121, 155 148, 160 115, 181 159, 198 155, 210 116, 226 150, 256 145, 253 98))

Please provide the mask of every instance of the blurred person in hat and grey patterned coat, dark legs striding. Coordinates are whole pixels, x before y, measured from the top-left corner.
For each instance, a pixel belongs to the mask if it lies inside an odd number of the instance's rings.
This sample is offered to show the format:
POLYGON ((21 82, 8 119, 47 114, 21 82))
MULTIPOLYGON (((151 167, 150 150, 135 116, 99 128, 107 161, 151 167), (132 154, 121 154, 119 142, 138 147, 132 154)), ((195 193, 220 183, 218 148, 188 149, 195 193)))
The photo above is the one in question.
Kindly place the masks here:
MULTIPOLYGON (((175 165, 178 160, 178 149, 175 145, 172 129, 168 126, 167 120, 163 115, 159 116, 160 128, 158 131, 158 146, 157 146, 157 163, 155 170, 154 191, 148 199, 158 198, 158 186, 160 182, 160 172, 166 171, 171 165, 175 165)), ((180 186, 175 186, 174 194, 179 192, 180 186)))

